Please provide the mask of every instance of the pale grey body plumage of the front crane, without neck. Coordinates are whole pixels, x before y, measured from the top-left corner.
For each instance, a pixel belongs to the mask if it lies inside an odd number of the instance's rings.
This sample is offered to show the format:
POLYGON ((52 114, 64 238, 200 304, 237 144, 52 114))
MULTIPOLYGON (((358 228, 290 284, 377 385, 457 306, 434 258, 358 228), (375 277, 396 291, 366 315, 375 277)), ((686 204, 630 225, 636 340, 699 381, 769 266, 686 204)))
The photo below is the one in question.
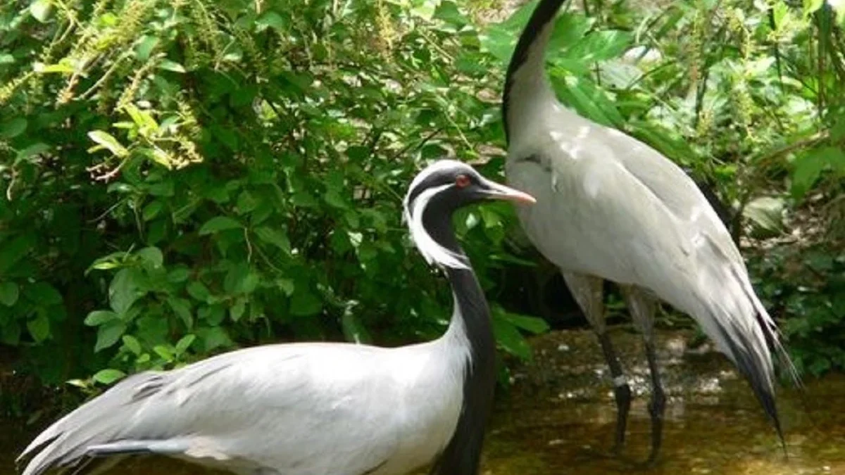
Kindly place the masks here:
POLYGON ((410 347, 270 345, 136 374, 33 440, 25 453, 47 445, 24 475, 109 452, 245 475, 406 473, 431 461, 455 430, 467 361, 461 339, 455 326, 410 347))

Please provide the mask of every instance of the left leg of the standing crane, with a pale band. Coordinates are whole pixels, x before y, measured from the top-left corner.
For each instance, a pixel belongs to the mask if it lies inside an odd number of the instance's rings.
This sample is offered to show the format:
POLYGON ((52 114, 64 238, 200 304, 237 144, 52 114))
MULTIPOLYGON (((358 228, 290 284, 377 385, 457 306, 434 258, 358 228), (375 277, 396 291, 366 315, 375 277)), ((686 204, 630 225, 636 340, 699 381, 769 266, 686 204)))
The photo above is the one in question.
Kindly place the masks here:
POLYGON ((592 330, 596 332, 598 342, 602 346, 604 360, 608 363, 610 375, 613 377, 613 398, 616 400, 616 434, 613 440, 613 452, 619 453, 625 443, 625 426, 628 423, 628 412, 631 407, 631 389, 608 336, 607 325, 604 323, 602 279, 568 272, 562 272, 562 274, 575 302, 586 315, 592 330))

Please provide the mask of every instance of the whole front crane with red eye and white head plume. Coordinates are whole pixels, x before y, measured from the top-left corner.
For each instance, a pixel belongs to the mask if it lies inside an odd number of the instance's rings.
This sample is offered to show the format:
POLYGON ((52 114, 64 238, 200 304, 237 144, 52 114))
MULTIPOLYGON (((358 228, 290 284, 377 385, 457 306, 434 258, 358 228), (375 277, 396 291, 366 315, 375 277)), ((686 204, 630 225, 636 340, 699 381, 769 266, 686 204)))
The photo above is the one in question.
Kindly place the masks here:
POLYGON ((31 457, 23 475, 81 472, 95 457, 133 454, 243 475, 400 475, 433 459, 434 474, 475 475, 495 343, 451 216, 485 199, 534 201, 452 160, 426 167, 404 200, 413 242, 452 287, 450 325, 438 340, 267 345, 135 374, 38 435, 19 457, 31 457))

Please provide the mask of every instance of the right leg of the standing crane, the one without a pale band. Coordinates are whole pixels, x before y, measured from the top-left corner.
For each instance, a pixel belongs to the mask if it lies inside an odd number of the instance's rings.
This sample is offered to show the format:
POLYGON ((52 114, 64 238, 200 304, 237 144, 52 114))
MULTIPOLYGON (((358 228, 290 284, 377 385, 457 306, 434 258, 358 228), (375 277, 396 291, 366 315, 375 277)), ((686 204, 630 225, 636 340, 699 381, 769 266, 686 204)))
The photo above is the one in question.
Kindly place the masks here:
POLYGON ((660 379, 660 368, 657 366, 657 347, 654 344, 654 314, 657 311, 657 299, 649 293, 631 286, 623 286, 622 294, 625 305, 628 306, 635 325, 642 332, 646 343, 646 358, 651 373, 651 401, 648 412, 651 415, 651 454, 646 461, 653 465, 660 453, 663 436, 663 413, 666 411, 666 393, 663 391, 660 379))

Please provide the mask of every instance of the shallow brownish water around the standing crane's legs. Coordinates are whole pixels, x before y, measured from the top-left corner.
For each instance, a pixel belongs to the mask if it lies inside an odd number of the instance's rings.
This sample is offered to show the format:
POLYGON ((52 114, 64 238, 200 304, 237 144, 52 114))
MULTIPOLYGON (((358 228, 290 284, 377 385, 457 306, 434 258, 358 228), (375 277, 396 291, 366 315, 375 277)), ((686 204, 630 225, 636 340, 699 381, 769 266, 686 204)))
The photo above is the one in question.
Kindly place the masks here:
MULTIPOLYGON (((744 381, 707 348, 686 348, 685 336, 663 332, 660 337, 668 404, 657 467, 637 465, 650 443, 648 373, 639 336, 620 328, 613 341, 637 394, 623 455, 608 453, 615 405, 595 338, 588 331, 556 332, 534 341, 537 361, 515 369, 513 389, 500 395, 482 473, 845 475, 845 376, 808 379, 803 396, 781 391, 787 459, 744 381)), ((0 474, 14 473, 14 456, 35 429, 22 431, 2 421, 0 428, 0 474)), ((177 461, 136 459, 110 473, 210 472, 177 461)))

